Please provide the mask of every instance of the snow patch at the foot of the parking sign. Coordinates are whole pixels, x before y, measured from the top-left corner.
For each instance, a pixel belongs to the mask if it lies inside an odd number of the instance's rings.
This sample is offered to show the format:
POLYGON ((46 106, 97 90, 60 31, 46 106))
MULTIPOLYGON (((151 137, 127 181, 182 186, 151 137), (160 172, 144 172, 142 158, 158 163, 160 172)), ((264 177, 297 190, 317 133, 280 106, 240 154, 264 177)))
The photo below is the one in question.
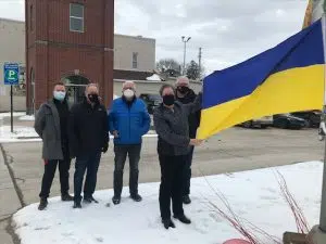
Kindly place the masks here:
POLYGON ((33 141, 40 140, 33 127, 14 126, 14 132, 12 133, 10 126, 0 126, 0 143, 17 142, 21 141, 21 139, 32 139, 33 141))

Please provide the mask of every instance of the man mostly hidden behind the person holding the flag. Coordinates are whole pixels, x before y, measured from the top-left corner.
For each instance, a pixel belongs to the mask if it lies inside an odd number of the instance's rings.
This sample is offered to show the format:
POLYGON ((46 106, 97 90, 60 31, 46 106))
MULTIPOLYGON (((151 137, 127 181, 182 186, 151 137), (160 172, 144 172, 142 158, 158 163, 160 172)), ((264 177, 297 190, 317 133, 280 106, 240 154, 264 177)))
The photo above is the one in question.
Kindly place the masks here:
MULTIPOLYGON (((196 100, 196 93, 189 88, 189 79, 187 77, 179 77, 176 81, 176 99, 183 104, 192 103, 196 100)), ((200 124, 200 111, 190 114, 189 121, 189 137, 196 138, 197 128, 200 124)), ((193 146, 190 146, 189 154, 187 155, 187 165, 185 167, 183 177, 183 202, 190 204, 190 179, 191 179, 191 164, 192 164, 193 146)))

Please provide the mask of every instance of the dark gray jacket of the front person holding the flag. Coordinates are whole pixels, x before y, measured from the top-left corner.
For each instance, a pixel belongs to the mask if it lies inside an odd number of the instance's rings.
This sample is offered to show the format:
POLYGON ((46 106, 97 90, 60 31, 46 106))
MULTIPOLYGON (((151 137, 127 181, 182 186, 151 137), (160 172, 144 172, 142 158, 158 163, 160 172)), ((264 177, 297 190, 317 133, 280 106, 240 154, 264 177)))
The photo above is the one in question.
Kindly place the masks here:
POLYGON ((189 153, 189 123, 190 114, 201 110, 201 93, 193 103, 181 104, 175 102, 174 108, 163 104, 154 110, 154 127, 159 136, 158 153, 162 155, 179 156, 189 153))

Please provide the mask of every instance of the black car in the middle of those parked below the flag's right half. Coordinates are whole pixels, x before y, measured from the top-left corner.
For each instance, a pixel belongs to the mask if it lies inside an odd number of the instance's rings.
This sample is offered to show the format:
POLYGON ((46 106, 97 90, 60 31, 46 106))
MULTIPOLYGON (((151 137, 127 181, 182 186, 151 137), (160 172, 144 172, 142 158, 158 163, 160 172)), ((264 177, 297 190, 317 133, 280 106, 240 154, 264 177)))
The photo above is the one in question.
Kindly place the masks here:
POLYGON ((274 127, 283 129, 302 129, 308 127, 308 121, 291 114, 274 115, 274 127))

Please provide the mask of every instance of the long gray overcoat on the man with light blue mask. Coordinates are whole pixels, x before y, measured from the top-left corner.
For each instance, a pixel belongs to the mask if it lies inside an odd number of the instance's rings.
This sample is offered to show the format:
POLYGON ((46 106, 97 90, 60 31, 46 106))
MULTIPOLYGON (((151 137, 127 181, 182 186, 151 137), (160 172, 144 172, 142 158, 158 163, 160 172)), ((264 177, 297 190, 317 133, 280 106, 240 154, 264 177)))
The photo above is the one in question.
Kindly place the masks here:
POLYGON ((40 106, 35 117, 34 128, 43 141, 42 158, 47 160, 63 159, 60 117, 52 100, 40 106))

